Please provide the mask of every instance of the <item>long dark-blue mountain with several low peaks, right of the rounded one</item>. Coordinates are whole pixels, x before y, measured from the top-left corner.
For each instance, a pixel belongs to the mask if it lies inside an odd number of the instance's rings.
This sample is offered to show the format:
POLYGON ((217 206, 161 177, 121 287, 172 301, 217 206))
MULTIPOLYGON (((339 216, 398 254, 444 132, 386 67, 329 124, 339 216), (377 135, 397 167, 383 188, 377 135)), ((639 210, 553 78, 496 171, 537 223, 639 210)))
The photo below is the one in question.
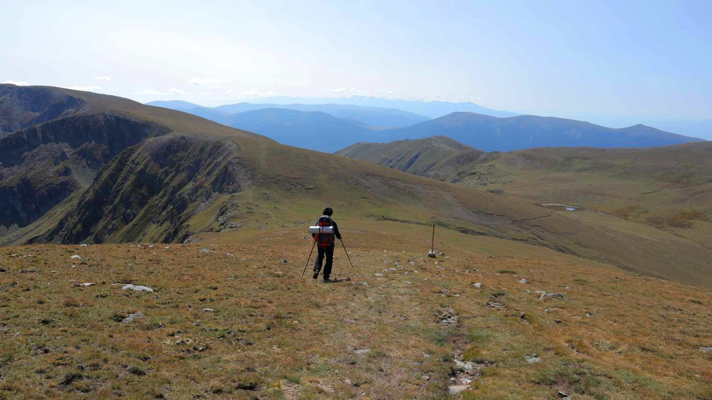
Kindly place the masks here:
POLYGON ((533 147, 655 147, 703 141, 645 125, 614 129, 555 117, 520 115, 497 118, 473 112, 453 112, 382 134, 388 140, 441 135, 486 152, 533 147))

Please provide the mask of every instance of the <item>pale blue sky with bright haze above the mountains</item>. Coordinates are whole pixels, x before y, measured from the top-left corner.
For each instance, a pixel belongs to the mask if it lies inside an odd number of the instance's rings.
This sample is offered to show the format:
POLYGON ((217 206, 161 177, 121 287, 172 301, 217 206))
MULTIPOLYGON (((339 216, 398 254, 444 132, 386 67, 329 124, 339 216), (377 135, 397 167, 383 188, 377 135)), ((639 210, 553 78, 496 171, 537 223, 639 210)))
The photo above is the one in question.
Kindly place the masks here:
POLYGON ((712 119, 712 1, 0 0, 0 83, 712 119))

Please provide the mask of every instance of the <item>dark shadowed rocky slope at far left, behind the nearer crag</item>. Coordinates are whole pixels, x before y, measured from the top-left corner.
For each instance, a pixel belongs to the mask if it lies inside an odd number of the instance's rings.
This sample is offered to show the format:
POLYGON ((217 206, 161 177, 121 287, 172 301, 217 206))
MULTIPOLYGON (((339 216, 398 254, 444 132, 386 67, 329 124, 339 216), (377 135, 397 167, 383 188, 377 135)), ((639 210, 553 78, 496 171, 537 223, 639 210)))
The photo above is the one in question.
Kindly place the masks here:
POLYGON ((93 180, 123 149, 167 129, 52 88, 0 85, 0 229, 28 225, 93 180), (33 125, 35 124, 35 125, 33 125))

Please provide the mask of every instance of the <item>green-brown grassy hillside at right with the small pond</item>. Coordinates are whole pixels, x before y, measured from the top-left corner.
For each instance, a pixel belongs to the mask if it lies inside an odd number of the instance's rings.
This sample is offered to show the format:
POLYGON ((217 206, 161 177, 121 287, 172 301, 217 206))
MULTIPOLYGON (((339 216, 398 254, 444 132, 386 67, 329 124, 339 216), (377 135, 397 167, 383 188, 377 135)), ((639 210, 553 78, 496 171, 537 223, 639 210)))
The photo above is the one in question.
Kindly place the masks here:
MULTIPOLYGON (((503 190, 538 205, 570 204, 580 226, 607 226, 659 243, 696 247, 696 267, 669 259, 668 265, 646 260, 646 270, 687 283, 712 283, 708 241, 712 236, 712 144, 684 144, 653 149, 548 148, 483 153, 433 146, 431 140, 392 144, 355 144, 339 152, 426 177, 452 181, 482 191, 503 190), (672 241, 672 242, 669 242, 672 241), (674 265, 671 268, 670 265, 674 265), (701 280, 698 280, 701 279, 701 280)), ((553 212, 560 212, 554 210, 553 212)), ((639 241, 608 236, 612 251, 645 257, 639 241)), ((586 243, 582 246, 589 247, 586 243)), ((676 245, 665 252, 679 253, 676 245)), ((691 251, 691 248, 687 248, 691 251)), ((635 263, 629 263, 629 266, 635 263)))

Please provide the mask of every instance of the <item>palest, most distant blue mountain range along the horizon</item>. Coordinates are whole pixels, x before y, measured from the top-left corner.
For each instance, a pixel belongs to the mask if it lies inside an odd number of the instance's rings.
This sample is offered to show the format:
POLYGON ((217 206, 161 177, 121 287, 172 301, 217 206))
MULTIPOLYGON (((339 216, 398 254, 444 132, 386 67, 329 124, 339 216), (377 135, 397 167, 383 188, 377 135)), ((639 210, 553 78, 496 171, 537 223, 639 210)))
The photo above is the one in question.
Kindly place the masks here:
POLYGON ((339 104, 339 105, 360 105, 362 107, 383 107, 395 108, 407 112, 413 112, 417 115, 424 115, 429 118, 442 117, 451 112, 477 112, 483 115, 492 115, 493 117, 514 117, 515 112, 491 110, 481 105, 476 105, 473 102, 442 102, 442 101, 420 101, 420 100, 390 100, 384 98, 372 98, 368 96, 351 96, 350 98, 288 98, 278 96, 273 98, 263 98, 260 100, 251 100, 253 103, 271 103, 279 105, 288 105, 300 103, 305 105, 316 105, 322 103, 339 104))

